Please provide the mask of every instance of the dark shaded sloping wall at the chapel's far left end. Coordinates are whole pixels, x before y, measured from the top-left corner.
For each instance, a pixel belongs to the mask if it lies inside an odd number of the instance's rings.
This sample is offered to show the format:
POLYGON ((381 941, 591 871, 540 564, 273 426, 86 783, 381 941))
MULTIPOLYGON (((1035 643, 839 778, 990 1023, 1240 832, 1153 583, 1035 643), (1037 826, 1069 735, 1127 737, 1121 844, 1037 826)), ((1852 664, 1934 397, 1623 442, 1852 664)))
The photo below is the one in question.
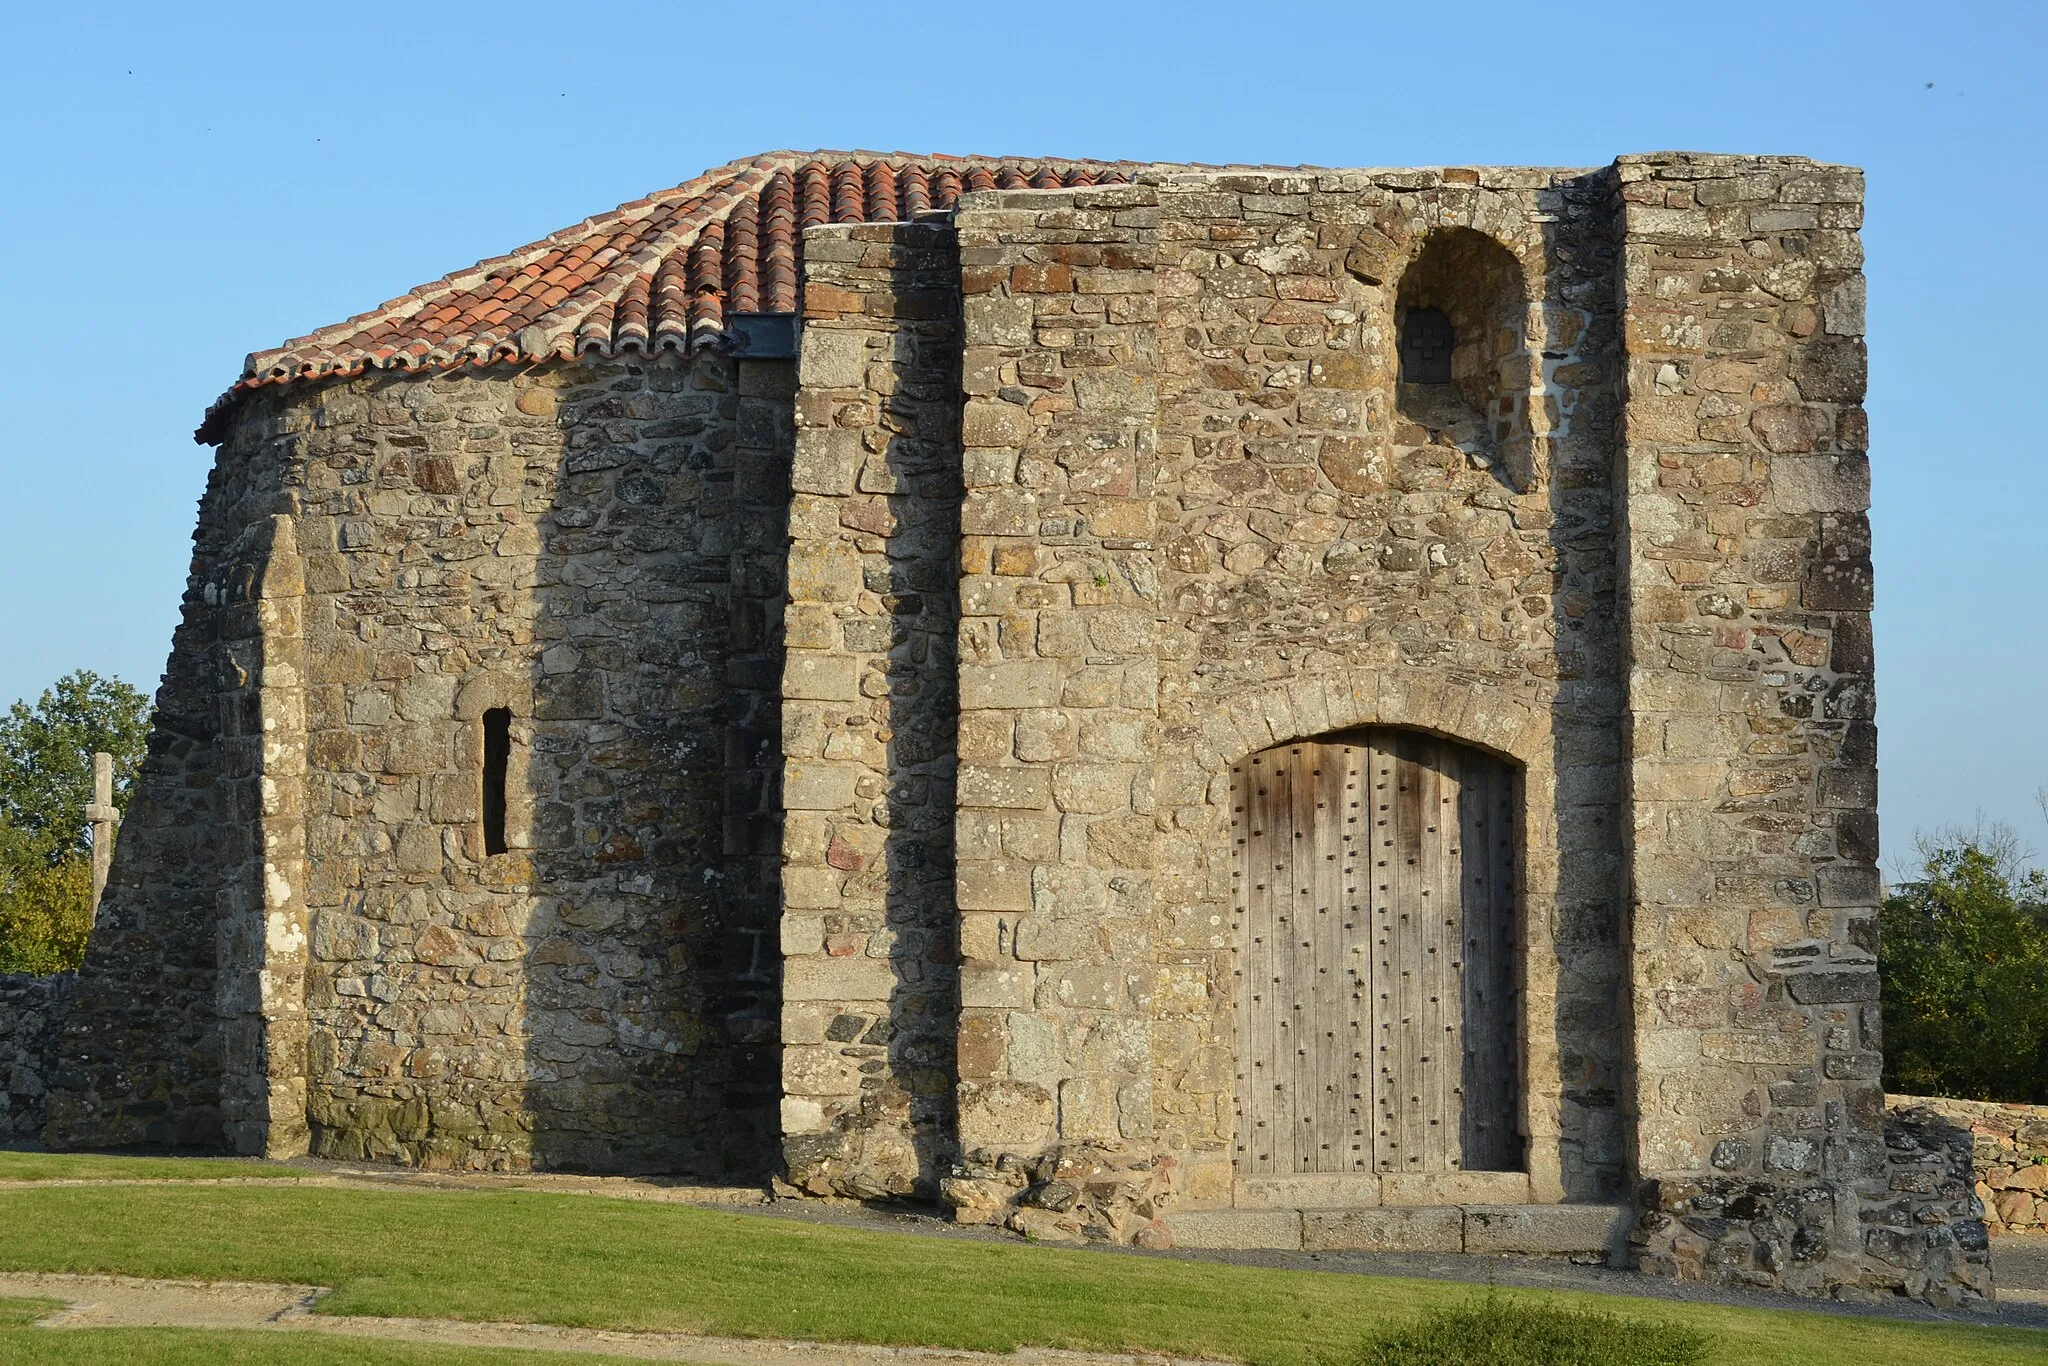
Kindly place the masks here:
MULTIPOLYGON (((51 1147, 221 1147, 227 1124, 248 1137, 246 1120, 268 1104, 272 1061, 260 1024, 250 1028, 266 1010, 270 895, 258 698, 266 678, 285 692, 295 680, 266 676, 260 623, 279 610, 266 586, 291 592, 289 567, 270 578, 270 549, 293 510, 293 442, 289 422, 250 412, 199 502, 135 799, 86 963, 53 1024, 51 1147)), ((291 924, 279 928, 289 938, 291 924)), ((268 1010, 289 1014, 293 983, 279 985, 268 1010)), ((295 1063, 279 1065, 289 1090, 295 1063)))

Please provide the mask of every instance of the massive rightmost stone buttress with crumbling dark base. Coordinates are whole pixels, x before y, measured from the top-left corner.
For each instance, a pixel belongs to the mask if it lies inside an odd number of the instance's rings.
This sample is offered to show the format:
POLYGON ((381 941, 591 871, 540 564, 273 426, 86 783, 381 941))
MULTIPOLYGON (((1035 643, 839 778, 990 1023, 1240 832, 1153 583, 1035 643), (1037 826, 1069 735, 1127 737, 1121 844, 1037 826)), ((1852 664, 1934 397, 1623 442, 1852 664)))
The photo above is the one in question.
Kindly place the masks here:
POLYGON ((1618 188, 1640 1262, 1927 1292, 1954 1210, 1888 1190, 1878 1085, 1862 176, 1618 188))

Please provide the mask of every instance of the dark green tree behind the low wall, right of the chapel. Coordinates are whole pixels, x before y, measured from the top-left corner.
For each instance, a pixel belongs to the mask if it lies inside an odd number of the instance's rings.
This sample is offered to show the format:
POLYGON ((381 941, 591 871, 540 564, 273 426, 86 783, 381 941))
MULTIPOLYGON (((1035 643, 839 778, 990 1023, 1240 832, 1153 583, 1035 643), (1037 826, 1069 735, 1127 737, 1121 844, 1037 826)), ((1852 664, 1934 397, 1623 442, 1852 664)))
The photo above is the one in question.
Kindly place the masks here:
POLYGON ((1884 901, 1878 971, 1886 1090, 2048 1102, 2048 872, 2011 840, 1925 848, 1884 901))

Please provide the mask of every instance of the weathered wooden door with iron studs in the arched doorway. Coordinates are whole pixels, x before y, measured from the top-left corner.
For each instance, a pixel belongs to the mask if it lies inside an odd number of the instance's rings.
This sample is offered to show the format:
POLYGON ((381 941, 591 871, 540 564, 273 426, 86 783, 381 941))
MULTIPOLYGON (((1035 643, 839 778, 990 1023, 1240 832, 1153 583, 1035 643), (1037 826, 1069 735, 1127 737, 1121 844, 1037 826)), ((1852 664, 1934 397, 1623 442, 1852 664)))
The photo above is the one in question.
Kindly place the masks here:
POLYGON ((1419 731, 1237 764, 1239 1178, 1524 1169, 1516 811, 1419 731))

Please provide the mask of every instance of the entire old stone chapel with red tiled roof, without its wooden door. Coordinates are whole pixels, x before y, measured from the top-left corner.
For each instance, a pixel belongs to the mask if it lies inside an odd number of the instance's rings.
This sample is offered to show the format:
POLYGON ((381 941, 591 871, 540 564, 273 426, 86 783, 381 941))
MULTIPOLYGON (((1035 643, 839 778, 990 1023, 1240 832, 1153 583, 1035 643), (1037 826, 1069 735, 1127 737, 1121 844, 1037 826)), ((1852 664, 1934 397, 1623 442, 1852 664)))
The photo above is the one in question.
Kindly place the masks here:
POLYGON ((772 154, 254 356, 47 1139, 1989 1292, 1878 1090, 1860 199, 772 154), (1513 1169, 1235 1159, 1233 766, 1360 727, 1513 770, 1513 1169))

